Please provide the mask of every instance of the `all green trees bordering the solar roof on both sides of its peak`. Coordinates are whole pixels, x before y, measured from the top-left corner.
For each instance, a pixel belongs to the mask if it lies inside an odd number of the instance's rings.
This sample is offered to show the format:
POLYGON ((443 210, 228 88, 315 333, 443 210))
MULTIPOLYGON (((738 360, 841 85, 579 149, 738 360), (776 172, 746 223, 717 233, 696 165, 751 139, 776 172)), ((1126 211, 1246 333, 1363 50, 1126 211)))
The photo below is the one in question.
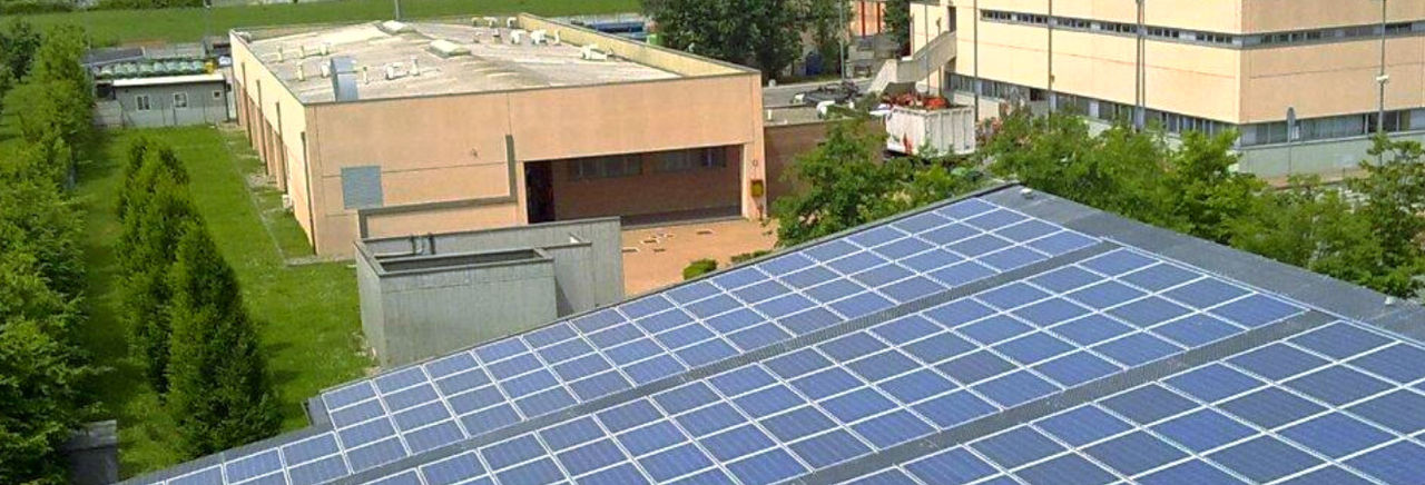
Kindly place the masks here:
POLYGON ((979 159, 881 162, 882 134, 834 125, 797 159, 801 185, 772 208, 778 243, 797 245, 969 192, 988 165, 1005 179, 1097 209, 1214 240, 1378 292, 1425 289, 1425 149, 1377 139, 1358 176, 1341 185, 1294 178, 1277 189, 1235 172, 1235 132, 1187 132, 1170 148, 1161 131, 1126 124, 1093 135, 1073 114, 1003 119, 979 159))

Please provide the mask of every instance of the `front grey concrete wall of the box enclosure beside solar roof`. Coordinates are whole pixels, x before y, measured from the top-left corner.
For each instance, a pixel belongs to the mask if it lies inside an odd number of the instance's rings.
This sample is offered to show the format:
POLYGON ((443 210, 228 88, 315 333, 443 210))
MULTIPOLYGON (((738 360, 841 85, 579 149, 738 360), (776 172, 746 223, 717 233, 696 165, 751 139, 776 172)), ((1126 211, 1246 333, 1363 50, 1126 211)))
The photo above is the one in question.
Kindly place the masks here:
MULTIPOLYGON (((551 259, 388 275, 378 358, 383 367, 446 354, 557 319, 551 259)), ((363 323, 365 327, 365 323, 363 323)))

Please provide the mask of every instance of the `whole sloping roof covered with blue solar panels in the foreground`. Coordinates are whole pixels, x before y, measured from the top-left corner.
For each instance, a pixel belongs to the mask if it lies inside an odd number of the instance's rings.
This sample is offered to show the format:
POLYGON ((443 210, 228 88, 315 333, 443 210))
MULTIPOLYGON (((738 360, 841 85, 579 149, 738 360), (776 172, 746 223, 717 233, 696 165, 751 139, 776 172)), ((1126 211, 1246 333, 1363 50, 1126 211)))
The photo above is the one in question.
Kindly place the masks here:
POLYGON ((312 428, 135 482, 1406 484, 1425 310, 1387 302, 999 186, 326 390, 312 428))

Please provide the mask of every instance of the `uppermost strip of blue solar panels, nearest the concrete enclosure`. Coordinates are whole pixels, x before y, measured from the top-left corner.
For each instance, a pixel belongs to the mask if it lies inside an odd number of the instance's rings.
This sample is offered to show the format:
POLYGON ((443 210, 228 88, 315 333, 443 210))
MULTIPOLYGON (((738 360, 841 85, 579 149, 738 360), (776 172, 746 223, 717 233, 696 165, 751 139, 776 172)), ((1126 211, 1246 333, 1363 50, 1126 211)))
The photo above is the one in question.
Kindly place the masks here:
POLYGON ((171 482, 336 479, 1094 242, 963 201, 326 391, 332 431, 171 482))

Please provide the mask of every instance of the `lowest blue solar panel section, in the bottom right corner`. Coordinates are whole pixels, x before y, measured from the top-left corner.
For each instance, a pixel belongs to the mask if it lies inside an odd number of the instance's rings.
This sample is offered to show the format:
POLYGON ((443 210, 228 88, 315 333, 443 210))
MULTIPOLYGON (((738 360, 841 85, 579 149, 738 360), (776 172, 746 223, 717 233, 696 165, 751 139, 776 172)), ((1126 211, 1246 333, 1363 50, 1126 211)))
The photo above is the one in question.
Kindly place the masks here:
POLYGON ((858 484, 1421 484, 1425 350, 1338 321, 858 484))

